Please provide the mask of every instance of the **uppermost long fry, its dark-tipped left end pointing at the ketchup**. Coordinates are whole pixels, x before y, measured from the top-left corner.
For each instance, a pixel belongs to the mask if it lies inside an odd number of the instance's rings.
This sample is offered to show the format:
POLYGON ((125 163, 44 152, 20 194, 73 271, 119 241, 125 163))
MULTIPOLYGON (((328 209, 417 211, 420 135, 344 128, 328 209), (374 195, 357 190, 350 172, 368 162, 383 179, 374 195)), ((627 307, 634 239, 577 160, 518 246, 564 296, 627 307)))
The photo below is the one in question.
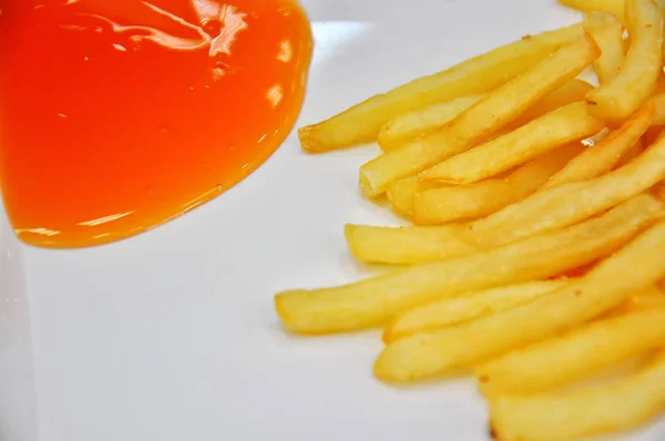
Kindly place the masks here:
POLYGON ((459 96, 487 93, 581 34, 580 24, 543 32, 375 95, 326 121, 299 129, 303 150, 321 153, 374 142, 381 126, 397 115, 459 96))

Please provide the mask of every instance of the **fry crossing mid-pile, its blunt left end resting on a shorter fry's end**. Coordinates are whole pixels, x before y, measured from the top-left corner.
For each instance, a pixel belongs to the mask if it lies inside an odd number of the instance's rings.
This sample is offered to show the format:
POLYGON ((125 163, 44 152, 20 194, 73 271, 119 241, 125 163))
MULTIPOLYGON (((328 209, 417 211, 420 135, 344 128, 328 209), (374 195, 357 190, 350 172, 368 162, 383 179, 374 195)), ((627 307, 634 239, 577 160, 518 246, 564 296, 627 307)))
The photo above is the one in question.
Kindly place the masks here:
POLYGON ((552 228, 572 225, 642 193, 665 178, 665 136, 642 155, 601 177, 538 192, 522 202, 473 222, 469 240, 507 244, 552 228))

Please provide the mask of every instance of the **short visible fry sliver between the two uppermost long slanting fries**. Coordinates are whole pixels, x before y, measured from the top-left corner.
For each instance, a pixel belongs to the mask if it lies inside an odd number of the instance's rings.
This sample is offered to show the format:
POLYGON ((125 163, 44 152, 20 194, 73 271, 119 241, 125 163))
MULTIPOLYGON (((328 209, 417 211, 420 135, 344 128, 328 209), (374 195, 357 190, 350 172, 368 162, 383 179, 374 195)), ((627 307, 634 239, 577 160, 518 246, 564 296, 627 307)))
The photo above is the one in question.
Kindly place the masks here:
POLYGON ((381 127, 377 142, 383 152, 395 150, 451 122, 482 98, 484 94, 460 96, 398 115, 381 127))

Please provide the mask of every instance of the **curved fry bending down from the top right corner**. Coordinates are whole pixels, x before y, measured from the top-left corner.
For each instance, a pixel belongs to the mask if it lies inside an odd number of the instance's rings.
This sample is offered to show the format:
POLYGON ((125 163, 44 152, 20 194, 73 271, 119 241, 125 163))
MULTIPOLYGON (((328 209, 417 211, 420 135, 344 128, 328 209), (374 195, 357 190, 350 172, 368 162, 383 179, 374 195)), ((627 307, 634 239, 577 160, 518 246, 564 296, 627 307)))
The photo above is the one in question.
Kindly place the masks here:
POLYGON ((663 13, 654 0, 626 0, 631 44, 618 74, 586 94, 589 111, 618 121, 630 116, 656 88, 663 65, 663 13))

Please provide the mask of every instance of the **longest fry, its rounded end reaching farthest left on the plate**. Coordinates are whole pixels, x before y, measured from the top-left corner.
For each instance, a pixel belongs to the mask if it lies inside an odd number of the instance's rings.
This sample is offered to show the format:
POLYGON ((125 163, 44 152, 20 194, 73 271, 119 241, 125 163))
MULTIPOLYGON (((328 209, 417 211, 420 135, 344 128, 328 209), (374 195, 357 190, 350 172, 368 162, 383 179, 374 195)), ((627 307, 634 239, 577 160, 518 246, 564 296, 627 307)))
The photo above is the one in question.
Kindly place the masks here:
POLYGON ((275 307, 286 327, 300 334, 382 325, 419 304, 546 278, 594 261, 653 223, 662 209, 661 202, 642 195, 602 217, 487 253, 415 265, 336 288, 282 293, 275 307))

